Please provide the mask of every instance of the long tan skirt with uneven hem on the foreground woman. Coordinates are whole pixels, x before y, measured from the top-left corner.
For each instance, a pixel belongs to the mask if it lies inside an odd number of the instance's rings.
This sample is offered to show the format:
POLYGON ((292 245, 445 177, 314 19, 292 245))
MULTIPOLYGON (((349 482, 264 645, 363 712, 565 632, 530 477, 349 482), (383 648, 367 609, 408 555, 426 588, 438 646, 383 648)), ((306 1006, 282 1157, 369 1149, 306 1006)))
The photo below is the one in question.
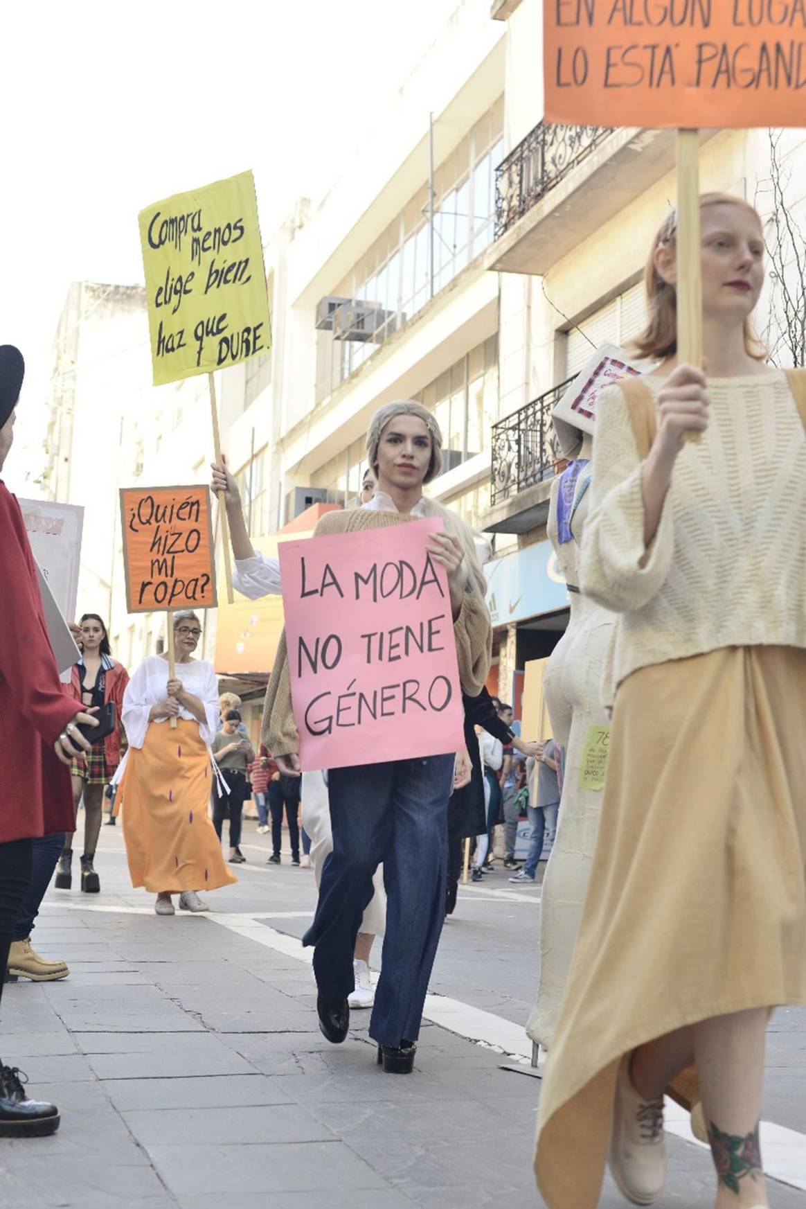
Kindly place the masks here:
POLYGON ((549 1209, 597 1204, 624 1054, 782 1005, 806 1005, 806 650, 729 647, 642 669, 616 695, 543 1080, 534 1169, 549 1209))

